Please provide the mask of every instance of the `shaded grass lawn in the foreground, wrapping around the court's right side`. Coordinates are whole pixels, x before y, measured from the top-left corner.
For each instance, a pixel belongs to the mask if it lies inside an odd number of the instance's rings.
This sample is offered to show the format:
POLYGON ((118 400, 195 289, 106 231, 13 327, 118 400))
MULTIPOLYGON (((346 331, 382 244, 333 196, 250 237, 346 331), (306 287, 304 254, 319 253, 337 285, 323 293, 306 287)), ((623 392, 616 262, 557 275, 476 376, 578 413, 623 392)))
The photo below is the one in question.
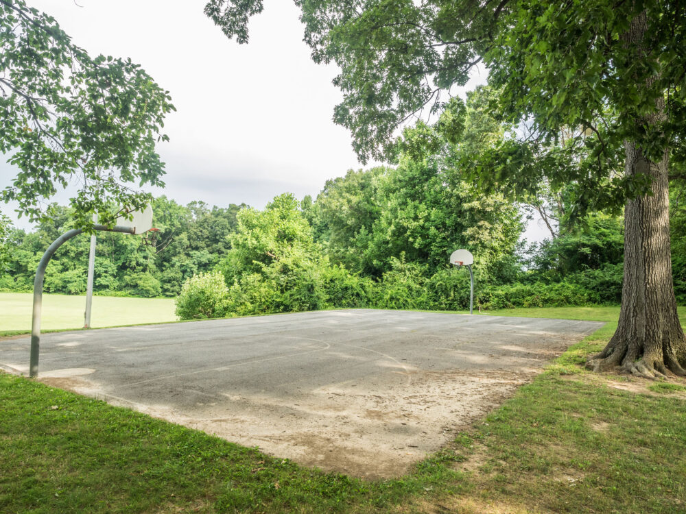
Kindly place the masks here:
POLYGON ((582 367, 617 313, 508 311, 610 321, 411 474, 378 482, 0 374, 0 511, 686 512, 686 381, 582 367))

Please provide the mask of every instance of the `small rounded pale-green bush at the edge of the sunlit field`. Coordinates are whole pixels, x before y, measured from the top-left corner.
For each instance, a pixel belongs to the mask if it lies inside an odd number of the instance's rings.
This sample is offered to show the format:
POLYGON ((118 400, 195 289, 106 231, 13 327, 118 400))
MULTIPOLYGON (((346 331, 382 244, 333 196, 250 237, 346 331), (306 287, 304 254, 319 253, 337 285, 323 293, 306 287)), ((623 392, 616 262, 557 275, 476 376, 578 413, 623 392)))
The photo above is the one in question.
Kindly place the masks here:
POLYGON ((200 273, 186 280, 176 298, 180 319, 206 319, 226 316, 228 288, 219 271, 200 273))

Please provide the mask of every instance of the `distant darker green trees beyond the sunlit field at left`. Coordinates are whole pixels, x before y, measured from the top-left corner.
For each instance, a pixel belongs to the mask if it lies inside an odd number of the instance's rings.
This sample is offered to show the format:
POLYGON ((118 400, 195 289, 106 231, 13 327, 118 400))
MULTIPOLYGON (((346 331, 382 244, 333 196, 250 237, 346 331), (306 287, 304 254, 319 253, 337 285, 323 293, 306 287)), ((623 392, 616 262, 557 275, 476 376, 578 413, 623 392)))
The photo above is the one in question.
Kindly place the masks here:
MULTIPOLYGON (((141 245, 128 234, 97 232, 95 293, 156 297, 176 296, 185 280, 213 269, 226 254, 227 236, 235 230, 237 212, 244 205, 209 208, 202 202, 181 206, 167 197, 152 201, 154 225, 161 229, 163 251, 141 245)), ((51 220, 32 233, 10 230, 14 247, 6 270, 0 270, 0 289, 29 291, 43 252, 60 234, 73 227, 73 209, 52 205, 51 220)), ((51 259, 45 275, 49 293, 83 293, 86 289, 88 238, 78 236, 62 245, 51 259)))

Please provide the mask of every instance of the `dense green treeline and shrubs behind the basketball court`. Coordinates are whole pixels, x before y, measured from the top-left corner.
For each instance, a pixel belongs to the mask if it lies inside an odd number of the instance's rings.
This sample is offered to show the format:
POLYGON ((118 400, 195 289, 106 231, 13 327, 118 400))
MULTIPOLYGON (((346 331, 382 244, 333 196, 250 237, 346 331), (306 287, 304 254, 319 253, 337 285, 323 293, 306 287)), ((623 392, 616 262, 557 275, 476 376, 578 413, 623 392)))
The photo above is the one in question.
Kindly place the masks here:
MULTIPOLYGON (((578 188, 543 181, 538 194, 517 197, 465 180, 471 156, 512 130, 490 115, 494 95, 477 88, 465 103, 451 100, 437 123, 403 132, 392 167, 348 171, 315 199, 285 193, 257 210, 158 197, 154 225, 163 251, 137 236, 97 234, 95 291, 178 297, 183 318, 362 306, 452 310, 469 302, 469 274, 447 262, 463 247, 475 255, 481 308, 619 302, 622 219, 575 215, 568 206, 578 188), (550 237, 526 246, 521 234, 534 211, 550 237)), ((559 165, 573 162, 541 162, 559 165)), ((671 204, 683 302, 686 208, 679 195, 671 204)), ((26 233, 0 218, 0 289, 32 288, 40 256, 73 223, 71 211, 56 205, 51 219, 26 233)), ((65 244, 47 269, 45 291, 83 293, 87 256, 86 236, 65 244)))

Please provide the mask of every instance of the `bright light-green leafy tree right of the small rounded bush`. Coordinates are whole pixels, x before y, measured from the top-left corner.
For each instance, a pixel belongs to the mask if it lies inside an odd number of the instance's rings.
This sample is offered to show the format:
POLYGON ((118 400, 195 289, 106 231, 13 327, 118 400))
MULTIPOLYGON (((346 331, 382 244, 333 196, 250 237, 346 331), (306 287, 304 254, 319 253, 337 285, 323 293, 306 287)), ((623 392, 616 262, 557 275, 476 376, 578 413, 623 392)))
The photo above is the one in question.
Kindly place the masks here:
POLYGON ((366 304, 370 282, 332 266, 290 194, 263 211, 239 212, 231 249, 220 263, 230 286, 231 313, 316 310, 366 304))

